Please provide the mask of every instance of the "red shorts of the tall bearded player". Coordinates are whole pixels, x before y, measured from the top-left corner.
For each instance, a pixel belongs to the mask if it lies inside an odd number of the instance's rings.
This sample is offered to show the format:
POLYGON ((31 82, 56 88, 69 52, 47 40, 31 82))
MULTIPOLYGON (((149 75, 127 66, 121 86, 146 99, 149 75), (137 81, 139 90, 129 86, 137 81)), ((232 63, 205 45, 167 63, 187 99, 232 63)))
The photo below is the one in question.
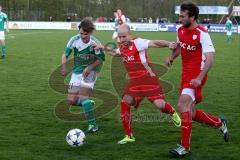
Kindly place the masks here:
POLYGON ((200 103, 203 99, 203 94, 202 94, 202 88, 205 85, 207 81, 207 76, 205 76, 202 80, 202 84, 197 87, 197 88, 193 88, 193 86, 191 86, 190 81, 184 81, 182 80, 181 86, 180 86, 180 90, 179 90, 179 95, 182 94, 182 90, 184 88, 191 88, 195 90, 195 102, 196 104, 200 103))

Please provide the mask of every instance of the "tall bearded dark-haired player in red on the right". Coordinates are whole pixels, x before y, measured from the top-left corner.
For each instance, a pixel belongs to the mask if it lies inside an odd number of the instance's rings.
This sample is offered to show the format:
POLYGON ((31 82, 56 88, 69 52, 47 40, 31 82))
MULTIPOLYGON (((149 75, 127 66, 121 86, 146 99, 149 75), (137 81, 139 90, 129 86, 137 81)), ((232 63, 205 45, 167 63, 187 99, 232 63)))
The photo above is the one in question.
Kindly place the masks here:
POLYGON ((197 24, 199 9, 192 2, 185 2, 180 7, 180 21, 182 26, 177 32, 178 47, 167 59, 167 65, 181 53, 182 83, 178 101, 181 113, 181 145, 170 153, 183 156, 190 152, 190 137, 192 120, 219 128, 227 142, 229 133, 226 120, 196 109, 195 105, 202 101, 202 88, 207 81, 207 73, 213 64, 215 52, 211 38, 207 31, 197 24))

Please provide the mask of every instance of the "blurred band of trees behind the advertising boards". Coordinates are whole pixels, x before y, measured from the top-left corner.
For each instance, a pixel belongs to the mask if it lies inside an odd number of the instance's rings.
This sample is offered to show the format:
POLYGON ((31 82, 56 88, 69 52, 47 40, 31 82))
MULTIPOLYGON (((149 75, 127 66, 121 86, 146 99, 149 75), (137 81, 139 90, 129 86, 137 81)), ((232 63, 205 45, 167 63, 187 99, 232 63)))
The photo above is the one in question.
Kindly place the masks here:
MULTIPOLYGON (((232 0, 192 0, 198 5, 228 6, 232 0)), ((113 11, 121 8, 124 14, 136 21, 138 18, 167 18, 175 22, 175 6, 183 0, 0 0, 3 11, 10 20, 65 21, 68 16, 79 21, 84 17, 113 17, 113 11)), ((237 0, 235 0, 237 5, 237 0)), ((239 5, 239 4, 238 4, 239 5)), ((221 16, 201 15, 218 22, 221 16)))

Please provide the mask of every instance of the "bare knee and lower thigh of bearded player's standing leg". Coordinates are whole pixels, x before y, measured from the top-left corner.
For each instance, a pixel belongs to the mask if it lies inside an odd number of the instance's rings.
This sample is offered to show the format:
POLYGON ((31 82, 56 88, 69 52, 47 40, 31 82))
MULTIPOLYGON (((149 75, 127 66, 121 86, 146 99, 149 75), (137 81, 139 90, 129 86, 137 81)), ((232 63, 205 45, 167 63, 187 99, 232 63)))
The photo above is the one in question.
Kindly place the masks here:
POLYGON ((191 111, 193 103, 194 101, 191 96, 189 96, 188 94, 181 94, 178 100, 179 111, 181 113, 191 111))

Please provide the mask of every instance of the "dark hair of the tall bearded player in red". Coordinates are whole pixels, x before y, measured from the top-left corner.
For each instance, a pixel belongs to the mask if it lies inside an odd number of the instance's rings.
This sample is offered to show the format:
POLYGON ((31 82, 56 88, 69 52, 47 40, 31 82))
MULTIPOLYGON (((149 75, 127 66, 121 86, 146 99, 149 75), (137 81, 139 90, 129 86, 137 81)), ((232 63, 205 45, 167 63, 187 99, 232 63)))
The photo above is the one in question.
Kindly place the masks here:
POLYGON ((181 11, 188 11, 188 16, 189 17, 193 17, 194 16, 194 20, 198 19, 198 15, 199 15, 199 8, 195 3, 192 2, 183 2, 181 4, 180 7, 181 11))

